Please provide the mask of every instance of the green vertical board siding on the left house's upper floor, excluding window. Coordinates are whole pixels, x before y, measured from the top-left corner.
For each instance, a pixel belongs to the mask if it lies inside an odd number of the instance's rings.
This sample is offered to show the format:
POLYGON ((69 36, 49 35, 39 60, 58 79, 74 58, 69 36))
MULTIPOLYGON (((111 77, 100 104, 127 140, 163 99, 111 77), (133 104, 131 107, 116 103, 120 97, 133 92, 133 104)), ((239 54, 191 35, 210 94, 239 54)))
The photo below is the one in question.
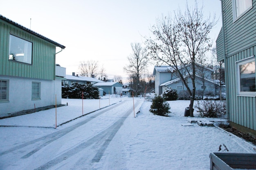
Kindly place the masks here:
POLYGON ((0 20, 0 75, 53 80, 56 45, 0 20), (32 64, 9 60, 9 34, 32 42, 32 64))

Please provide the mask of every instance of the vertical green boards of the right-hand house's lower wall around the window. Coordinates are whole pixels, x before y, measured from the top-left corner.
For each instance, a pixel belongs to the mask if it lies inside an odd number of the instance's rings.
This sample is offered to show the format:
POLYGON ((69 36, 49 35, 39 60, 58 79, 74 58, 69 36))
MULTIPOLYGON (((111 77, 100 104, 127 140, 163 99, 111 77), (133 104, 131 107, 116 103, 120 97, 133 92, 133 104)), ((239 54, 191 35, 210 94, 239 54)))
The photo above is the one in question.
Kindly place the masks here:
POLYGON ((256 130, 256 97, 238 96, 238 70, 236 62, 256 55, 256 46, 240 51, 227 58, 227 81, 229 82, 230 121, 256 130))

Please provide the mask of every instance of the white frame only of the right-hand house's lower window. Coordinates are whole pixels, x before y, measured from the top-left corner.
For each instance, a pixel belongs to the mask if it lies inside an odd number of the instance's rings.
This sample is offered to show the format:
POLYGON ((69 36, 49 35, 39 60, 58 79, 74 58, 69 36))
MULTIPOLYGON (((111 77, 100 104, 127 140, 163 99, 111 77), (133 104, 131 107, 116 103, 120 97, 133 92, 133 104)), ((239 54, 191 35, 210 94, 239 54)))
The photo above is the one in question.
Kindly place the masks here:
MULTIPOLYGON (((256 61, 255 61, 255 56, 254 55, 236 62, 236 64, 237 64, 237 77, 238 77, 238 96, 249 96, 249 97, 255 97, 256 96, 256 91, 255 92, 254 91, 241 91, 241 87, 240 87, 240 85, 241 85, 240 84, 240 65, 247 64, 249 62, 254 62, 255 66, 256 66, 256 61)), ((256 80, 256 74, 254 76, 255 76, 255 80, 256 80)))

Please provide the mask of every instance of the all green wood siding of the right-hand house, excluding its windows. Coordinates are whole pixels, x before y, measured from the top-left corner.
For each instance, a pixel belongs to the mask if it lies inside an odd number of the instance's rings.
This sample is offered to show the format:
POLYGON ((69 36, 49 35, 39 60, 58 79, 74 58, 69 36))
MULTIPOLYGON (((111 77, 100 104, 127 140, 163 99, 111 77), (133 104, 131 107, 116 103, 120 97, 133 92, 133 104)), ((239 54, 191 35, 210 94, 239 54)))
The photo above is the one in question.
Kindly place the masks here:
MULTIPOLYGON (((223 0, 225 48, 227 57, 227 102, 229 120, 256 130, 256 97, 238 95, 237 62, 256 55, 256 0, 253 7, 236 21, 233 20, 232 1, 223 0)), ((218 61, 224 59, 222 30, 216 40, 218 61)))

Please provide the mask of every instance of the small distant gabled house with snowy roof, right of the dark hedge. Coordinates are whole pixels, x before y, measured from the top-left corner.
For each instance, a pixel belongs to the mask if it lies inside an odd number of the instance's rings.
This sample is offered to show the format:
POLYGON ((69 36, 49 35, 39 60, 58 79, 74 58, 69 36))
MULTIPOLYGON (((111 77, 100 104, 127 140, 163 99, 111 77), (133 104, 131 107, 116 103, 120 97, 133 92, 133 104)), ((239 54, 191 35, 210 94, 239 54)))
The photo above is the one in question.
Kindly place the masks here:
POLYGON ((99 82, 93 84, 94 86, 97 86, 98 88, 102 88, 106 94, 121 94, 123 90, 123 85, 118 82, 99 82))

